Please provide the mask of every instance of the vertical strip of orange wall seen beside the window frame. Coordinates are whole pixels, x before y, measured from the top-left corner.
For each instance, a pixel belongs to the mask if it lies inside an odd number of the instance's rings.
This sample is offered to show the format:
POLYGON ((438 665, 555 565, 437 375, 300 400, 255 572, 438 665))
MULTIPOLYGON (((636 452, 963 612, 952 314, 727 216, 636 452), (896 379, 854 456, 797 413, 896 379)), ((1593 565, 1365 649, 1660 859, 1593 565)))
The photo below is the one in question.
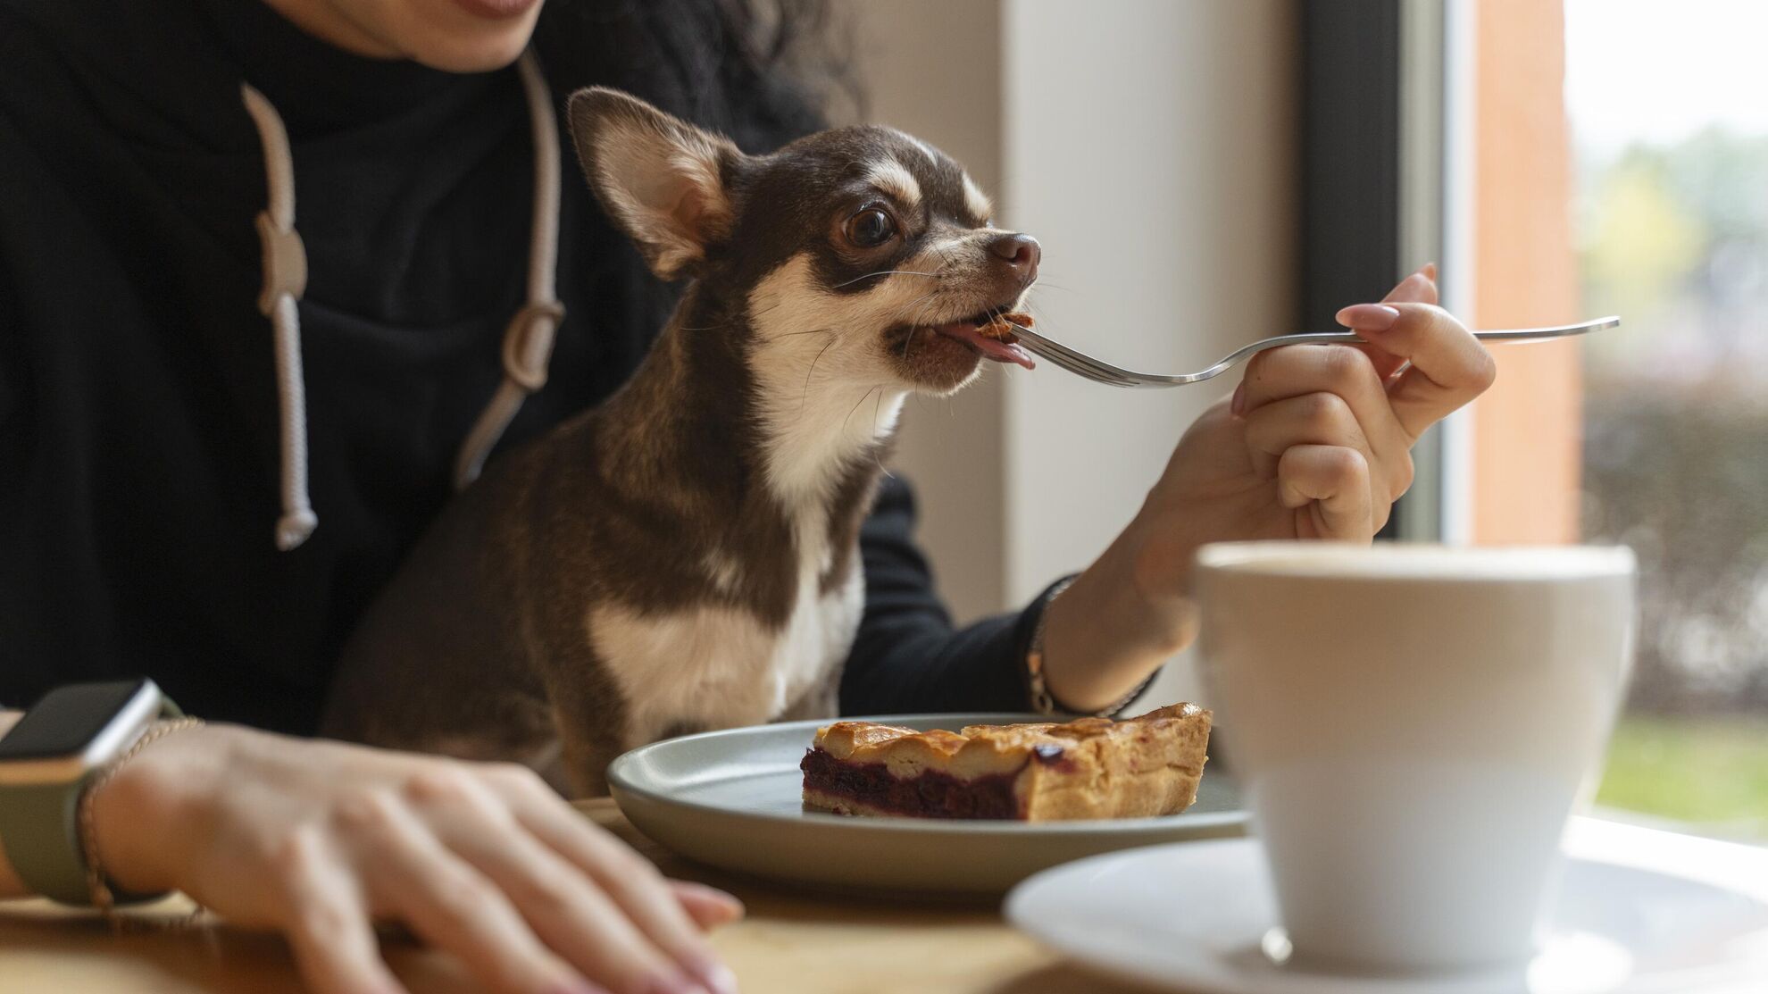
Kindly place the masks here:
MULTIPOLYGON (((1478 4, 1475 317, 1480 327, 1579 320, 1561 0, 1478 4)), ((1579 343, 1494 348, 1475 405, 1473 538, 1579 536, 1579 343)))

